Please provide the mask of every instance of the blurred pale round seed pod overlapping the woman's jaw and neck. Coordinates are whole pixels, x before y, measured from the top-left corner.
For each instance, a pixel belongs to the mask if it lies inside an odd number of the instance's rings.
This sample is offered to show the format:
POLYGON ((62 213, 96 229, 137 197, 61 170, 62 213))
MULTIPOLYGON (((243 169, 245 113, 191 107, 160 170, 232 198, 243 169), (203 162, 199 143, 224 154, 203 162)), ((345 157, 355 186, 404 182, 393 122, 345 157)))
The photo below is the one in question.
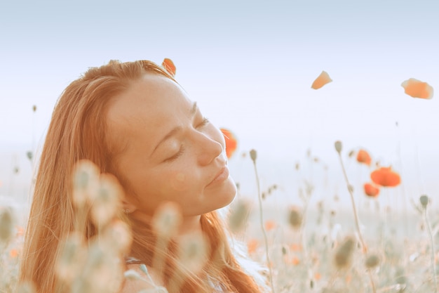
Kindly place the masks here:
POLYGON ((180 206, 175 202, 166 202, 156 210, 152 226, 162 237, 171 237, 177 233, 182 223, 180 206))

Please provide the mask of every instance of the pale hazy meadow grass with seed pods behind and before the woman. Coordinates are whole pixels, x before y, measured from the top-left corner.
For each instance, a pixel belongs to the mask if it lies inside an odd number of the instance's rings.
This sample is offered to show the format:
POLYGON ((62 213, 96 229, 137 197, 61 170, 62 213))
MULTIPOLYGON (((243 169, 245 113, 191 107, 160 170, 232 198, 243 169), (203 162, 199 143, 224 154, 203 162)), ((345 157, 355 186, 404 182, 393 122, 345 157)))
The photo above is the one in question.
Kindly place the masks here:
MULTIPOLYGON (((254 164, 257 194, 238 193, 236 202, 231 205, 231 217, 234 219, 232 230, 239 240, 247 244, 249 256, 268 266, 267 283, 273 292, 438 292, 436 271, 439 256, 436 243, 439 213, 431 204, 431 197, 419 195, 419 200, 413 202, 412 209, 407 211, 379 207, 377 197, 367 197, 361 186, 351 185, 351 174, 344 169, 342 145, 336 145, 335 151, 339 154, 340 166, 332 171, 344 174, 345 191, 351 200, 349 209, 339 207, 337 197, 313 200, 316 187, 327 184, 312 180, 297 183, 295 199, 299 203, 276 206, 272 203, 273 198, 279 196, 282 186, 277 183, 264 186, 260 183, 256 152, 250 153, 250 158, 243 158, 252 159, 254 164), (358 198, 363 198, 361 203, 356 202, 358 198), (253 204, 239 204, 245 201, 253 204), (358 207, 361 209, 358 210, 358 207), (237 210, 235 213, 234 208, 237 210), (243 221, 244 224, 241 223, 243 221), (401 223, 409 225, 403 226, 401 223)), ((348 158, 353 159, 352 155, 349 154, 348 158)), ((316 164, 316 160, 310 159, 308 164, 316 164)), ((252 174, 251 169, 246 171, 252 174)), ((299 173, 300 167, 297 166, 296 171, 299 173)), ((110 179, 102 188, 111 189, 110 179)), ((249 183, 238 183, 241 186, 246 184, 249 183)), ((378 196, 388 195, 386 191, 389 188, 380 186, 381 194, 378 196)), ((111 206, 105 209, 109 210, 116 212, 111 206)), ((96 209, 96 213, 97 219, 106 214, 99 209, 96 209)), ((20 216, 14 215, 14 211, 8 207, 0 207, 1 293, 13 292, 18 285, 23 228, 16 219, 20 216)), ((81 221, 78 219, 78 223, 81 221)), ((102 221, 101 232, 106 237, 114 237, 112 229, 123 231, 123 226, 107 226, 107 218, 102 221)), ((102 245, 105 241, 95 242, 84 250, 82 240, 74 235, 65 240, 66 247, 73 247, 75 253, 82 249, 88 257, 84 259, 67 253, 65 259, 60 261, 60 278, 72 287, 72 292, 93 292, 96 290, 93 286, 108 285, 109 280, 120 282, 112 275, 120 268, 114 259, 104 257, 117 254, 118 251, 102 245), (109 273, 110 267, 114 267, 110 270, 113 273, 109 273), (103 281, 95 283, 90 278, 103 281)), ((119 248, 126 249, 123 245, 126 244, 121 243, 119 248)), ((133 271, 124 275, 119 273, 121 278, 144 278, 133 271)), ((144 280, 149 282, 148 278, 144 280)), ((166 292, 164 288, 160 289, 166 292)), ((21 287, 20 290, 32 292, 32 288, 28 287, 21 287)))

